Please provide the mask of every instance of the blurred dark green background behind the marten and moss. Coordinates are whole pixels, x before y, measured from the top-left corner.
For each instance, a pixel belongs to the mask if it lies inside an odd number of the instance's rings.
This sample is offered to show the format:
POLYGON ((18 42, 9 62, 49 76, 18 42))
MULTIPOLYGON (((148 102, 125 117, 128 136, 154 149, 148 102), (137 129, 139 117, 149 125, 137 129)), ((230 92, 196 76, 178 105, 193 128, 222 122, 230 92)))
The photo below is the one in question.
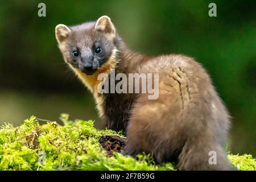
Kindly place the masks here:
POLYGON ((112 18, 127 45, 147 55, 195 57, 212 77, 233 126, 228 151, 256 156, 256 3, 249 1, 1 1, 0 125, 23 119, 93 119, 92 95, 64 64, 55 26, 112 18), (38 3, 46 3, 46 17, 38 3), (215 2, 217 17, 208 16, 215 2))

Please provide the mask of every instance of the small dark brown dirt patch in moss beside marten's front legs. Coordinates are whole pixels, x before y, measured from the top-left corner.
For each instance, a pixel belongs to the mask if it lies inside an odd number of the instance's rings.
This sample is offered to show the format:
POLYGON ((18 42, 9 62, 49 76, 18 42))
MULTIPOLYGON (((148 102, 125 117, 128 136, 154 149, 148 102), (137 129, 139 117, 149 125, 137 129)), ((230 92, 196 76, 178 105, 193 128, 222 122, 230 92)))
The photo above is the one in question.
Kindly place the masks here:
POLYGON ((113 156, 113 152, 121 152, 125 147, 126 138, 118 136, 104 135, 100 138, 101 146, 108 152, 108 156, 113 156))

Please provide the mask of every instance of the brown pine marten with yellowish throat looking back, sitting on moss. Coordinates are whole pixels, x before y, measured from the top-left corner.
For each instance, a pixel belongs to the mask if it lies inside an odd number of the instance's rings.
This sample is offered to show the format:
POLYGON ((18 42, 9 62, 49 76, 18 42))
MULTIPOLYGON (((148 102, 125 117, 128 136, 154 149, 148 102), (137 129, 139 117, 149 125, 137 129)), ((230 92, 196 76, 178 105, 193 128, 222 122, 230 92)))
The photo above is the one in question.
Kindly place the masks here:
POLYGON ((158 163, 177 163, 181 170, 233 169, 224 150, 229 114, 194 59, 133 52, 108 16, 77 26, 58 24, 55 34, 65 62, 93 93, 105 127, 125 131, 123 154, 146 152, 158 163), (99 93, 103 80, 98 76, 113 71, 127 77, 158 73, 158 98, 148 99, 150 93, 99 93), (211 151, 216 152, 214 164, 209 162, 211 151))

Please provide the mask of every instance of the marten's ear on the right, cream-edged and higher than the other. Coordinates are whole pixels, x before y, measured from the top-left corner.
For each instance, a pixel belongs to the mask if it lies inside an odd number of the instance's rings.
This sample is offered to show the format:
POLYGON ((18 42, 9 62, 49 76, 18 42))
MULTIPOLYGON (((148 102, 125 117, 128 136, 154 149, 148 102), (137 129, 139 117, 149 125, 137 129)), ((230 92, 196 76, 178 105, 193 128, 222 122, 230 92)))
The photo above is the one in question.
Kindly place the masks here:
POLYGON ((114 24, 111 22, 109 16, 101 16, 94 27, 97 31, 104 32, 106 34, 115 34, 114 24))

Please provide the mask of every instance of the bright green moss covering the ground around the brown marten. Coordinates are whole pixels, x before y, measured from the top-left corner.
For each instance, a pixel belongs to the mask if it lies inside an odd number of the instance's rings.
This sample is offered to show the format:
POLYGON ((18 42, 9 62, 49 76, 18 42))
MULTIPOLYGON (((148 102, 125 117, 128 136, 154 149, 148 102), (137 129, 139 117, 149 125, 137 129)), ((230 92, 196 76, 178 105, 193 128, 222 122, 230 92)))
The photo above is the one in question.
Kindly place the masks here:
MULTIPOLYGON (((115 153, 108 157, 98 139, 102 135, 119 135, 112 130, 96 130, 93 121, 68 120, 61 115, 64 126, 56 122, 39 125, 36 117, 13 127, 5 123, 0 129, 0 170, 175 170, 171 163, 155 165, 150 156, 115 153)), ((241 170, 255 170, 250 155, 229 155, 241 170)))

